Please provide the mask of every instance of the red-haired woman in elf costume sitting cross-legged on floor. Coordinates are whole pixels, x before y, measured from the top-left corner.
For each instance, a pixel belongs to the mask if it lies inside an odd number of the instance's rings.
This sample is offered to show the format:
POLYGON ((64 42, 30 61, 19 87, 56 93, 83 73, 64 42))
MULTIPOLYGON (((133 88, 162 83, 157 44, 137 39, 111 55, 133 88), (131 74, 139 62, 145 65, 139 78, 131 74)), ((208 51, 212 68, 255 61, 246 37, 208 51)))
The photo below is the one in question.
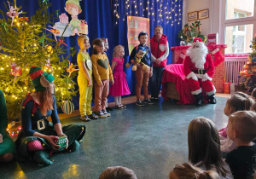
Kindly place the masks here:
POLYGON ((31 67, 29 75, 36 91, 26 95, 22 103, 22 130, 15 143, 19 158, 31 157, 40 165, 51 165, 52 161, 48 159, 50 151, 68 149, 74 152, 79 149, 79 142, 85 134, 85 125, 69 124, 62 127, 54 96, 54 77, 37 66, 31 67), (48 120, 49 116, 52 123, 48 120), (64 147, 57 145, 61 141, 58 140, 59 137, 64 141, 64 147))

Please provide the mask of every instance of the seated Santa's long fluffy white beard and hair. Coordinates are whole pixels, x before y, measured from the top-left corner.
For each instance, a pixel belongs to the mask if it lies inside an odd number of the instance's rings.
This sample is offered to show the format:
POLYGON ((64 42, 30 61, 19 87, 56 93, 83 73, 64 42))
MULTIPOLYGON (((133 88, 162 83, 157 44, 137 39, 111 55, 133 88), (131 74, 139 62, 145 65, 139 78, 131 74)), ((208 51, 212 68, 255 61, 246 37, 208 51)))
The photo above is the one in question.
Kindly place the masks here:
POLYGON ((201 42, 193 43, 192 46, 189 47, 187 51, 187 55, 189 55, 191 61, 195 64, 195 67, 198 69, 204 69, 207 54, 207 46, 201 42), (193 49, 195 45, 199 45, 199 48, 193 49))

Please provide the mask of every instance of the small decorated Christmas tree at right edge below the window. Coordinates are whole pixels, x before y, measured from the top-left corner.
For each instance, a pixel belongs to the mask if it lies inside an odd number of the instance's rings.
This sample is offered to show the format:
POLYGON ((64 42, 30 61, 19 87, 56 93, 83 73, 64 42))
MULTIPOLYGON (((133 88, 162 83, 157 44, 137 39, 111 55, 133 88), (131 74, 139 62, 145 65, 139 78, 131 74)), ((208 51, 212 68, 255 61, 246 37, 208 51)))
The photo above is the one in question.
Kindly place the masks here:
POLYGON ((253 51, 248 55, 247 64, 243 66, 240 75, 244 78, 242 84, 251 92, 256 87, 256 37, 253 38, 250 47, 253 51))

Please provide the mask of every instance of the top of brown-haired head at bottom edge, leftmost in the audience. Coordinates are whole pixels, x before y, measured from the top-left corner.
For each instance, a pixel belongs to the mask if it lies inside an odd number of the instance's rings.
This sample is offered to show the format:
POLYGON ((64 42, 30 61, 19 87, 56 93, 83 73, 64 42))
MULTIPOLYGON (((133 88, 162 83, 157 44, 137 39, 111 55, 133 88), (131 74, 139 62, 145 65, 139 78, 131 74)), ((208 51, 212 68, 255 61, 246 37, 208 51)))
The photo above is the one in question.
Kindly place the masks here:
POLYGON ((123 166, 111 166, 104 170, 99 179, 137 179, 134 171, 123 166))

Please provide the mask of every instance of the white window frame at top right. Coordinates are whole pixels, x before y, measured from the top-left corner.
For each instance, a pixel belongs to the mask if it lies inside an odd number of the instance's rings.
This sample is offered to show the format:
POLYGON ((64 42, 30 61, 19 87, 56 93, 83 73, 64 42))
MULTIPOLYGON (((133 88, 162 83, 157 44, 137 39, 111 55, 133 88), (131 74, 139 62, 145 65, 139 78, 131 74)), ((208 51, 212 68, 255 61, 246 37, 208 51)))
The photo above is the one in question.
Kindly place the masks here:
MULTIPOLYGON (((240 26, 240 25, 249 25, 253 24, 253 37, 256 36, 256 0, 254 0, 254 11, 253 16, 238 18, 238 19, 230 19, 226 20, 226 0, 220 1, 220 27, 219 27, 219 42, 225 43, 225 27, 227 26, 240 26)), ((239 54, 247 54, 247 53, 239 53, 239 54)))

